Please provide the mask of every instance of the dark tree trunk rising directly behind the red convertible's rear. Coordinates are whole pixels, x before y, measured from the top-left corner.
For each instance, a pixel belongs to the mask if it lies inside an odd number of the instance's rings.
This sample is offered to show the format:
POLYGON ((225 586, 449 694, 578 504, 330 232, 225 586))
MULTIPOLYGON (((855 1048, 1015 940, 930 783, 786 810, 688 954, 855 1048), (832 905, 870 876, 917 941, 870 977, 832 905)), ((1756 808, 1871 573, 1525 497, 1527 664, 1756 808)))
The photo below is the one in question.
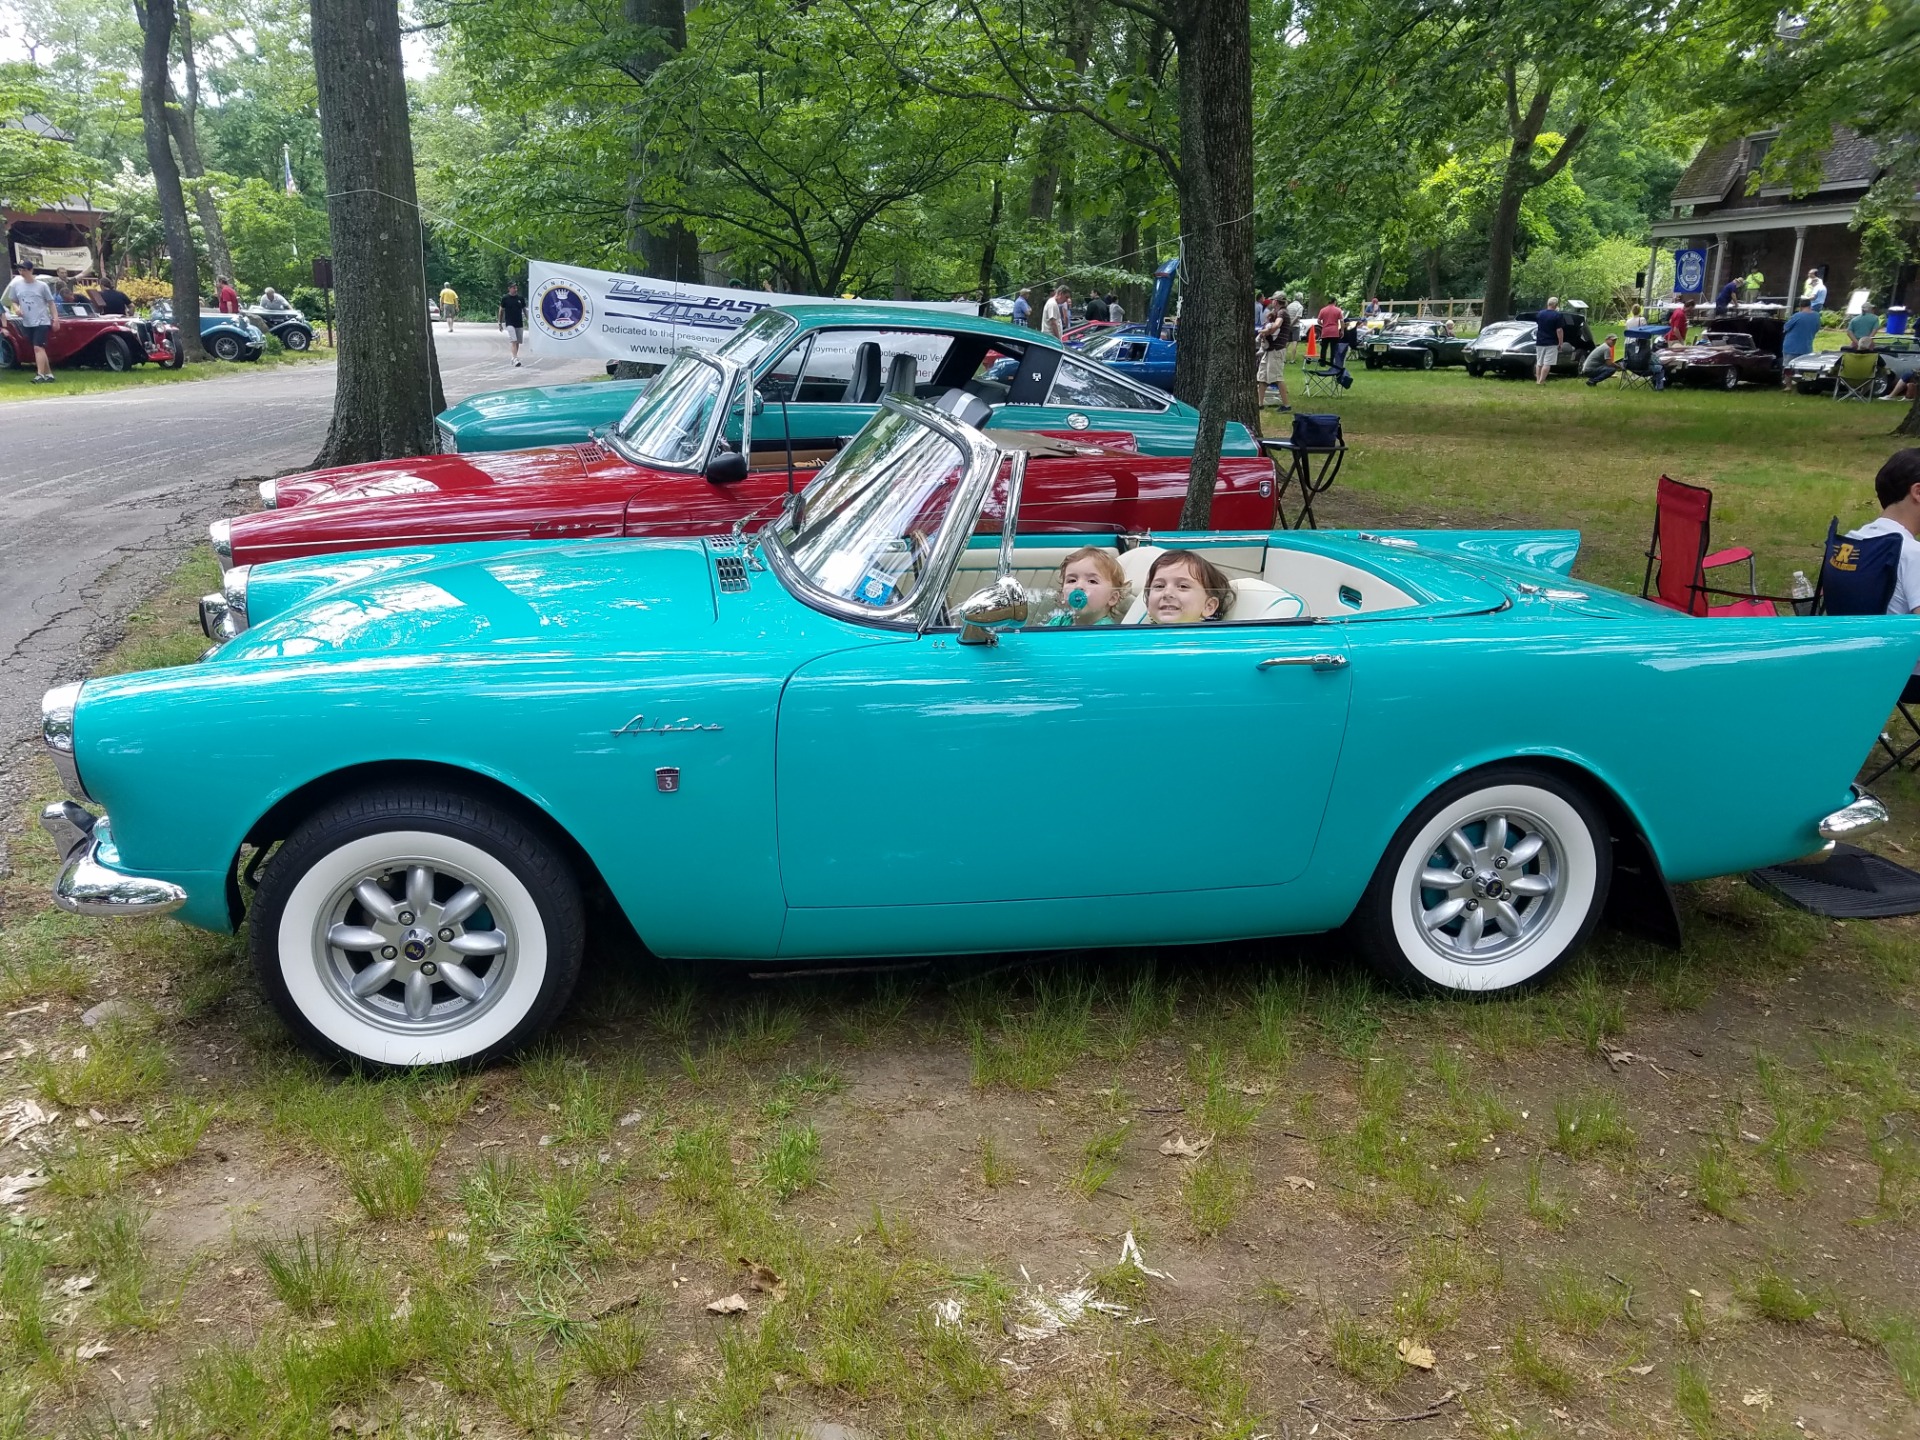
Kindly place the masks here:
POLYGON ((1187 232, 1175 390, 1200 411, 1183 530, 1206 530, 1227 420, 1254 396, 1254 61, 1250 0, 1192 0, 1181 63, 1181 230, 1187 232), (1185 386, 1185 388, 1181 388, 1185 386))

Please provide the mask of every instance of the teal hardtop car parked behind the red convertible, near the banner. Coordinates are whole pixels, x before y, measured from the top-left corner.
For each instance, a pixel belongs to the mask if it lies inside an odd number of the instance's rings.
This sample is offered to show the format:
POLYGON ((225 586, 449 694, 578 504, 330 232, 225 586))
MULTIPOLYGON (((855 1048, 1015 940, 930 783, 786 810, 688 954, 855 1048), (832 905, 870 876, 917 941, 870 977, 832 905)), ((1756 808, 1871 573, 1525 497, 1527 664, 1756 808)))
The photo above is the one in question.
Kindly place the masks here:
MULTIPOLYGON (((1192 455, 1200 413, 1164 390, 1087 361, 1052 336, 1004 321, 906 305, 831 301, 762 309, 720 346, 745 365, 774 432, 831 449, 874 419, 881 396, 970 390, 989 430, 1125 432, 1142 455, 1192 455), (1018 367, 1002 361, 1016 359, 1018 367)), ((618 424, 645 380, 492 390, 440 413, 442 451, 534 449, 618 424)), ((1229 422, 1227 455, 1258 455, 1229 422)))

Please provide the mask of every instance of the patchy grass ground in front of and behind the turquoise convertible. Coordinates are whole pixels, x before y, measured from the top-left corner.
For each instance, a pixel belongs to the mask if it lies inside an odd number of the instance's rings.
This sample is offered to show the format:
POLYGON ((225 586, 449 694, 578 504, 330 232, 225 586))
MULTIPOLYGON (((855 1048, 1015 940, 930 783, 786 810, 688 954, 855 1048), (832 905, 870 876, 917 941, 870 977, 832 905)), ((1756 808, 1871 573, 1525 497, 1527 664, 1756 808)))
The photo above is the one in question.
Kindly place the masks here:
MULTIPOLYGON (((1634 582, 1659 468, 1738 492, 1720 536, 1778 574, 1895 409, 1340 407, 1369 522, 1580 522, 1634 582)), ((198 653, 207 564, 111 668, 198 653)), ((1920 787, 1880 789, 1920 854, 1920 787)), ((290 1050, 240 941, 60 916, 44 837, 10 858, 6 1440, 1920 1432, 1914 920, 1690 885, 1686 948, 1603 933, 1475 1004, 1338 937, 778 981, 601 950, 516 1064, 365 1077, 290 1050)))

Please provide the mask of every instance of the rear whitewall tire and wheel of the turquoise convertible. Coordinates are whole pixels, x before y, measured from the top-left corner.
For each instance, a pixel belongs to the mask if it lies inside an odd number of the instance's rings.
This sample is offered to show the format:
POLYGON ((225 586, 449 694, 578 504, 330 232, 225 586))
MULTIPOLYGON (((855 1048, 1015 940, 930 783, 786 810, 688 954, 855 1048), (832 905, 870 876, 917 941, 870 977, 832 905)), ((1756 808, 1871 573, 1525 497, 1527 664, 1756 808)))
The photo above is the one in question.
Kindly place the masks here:
POLYGON ((1400 826, 1354 929, 1396 983, 1507 991, 1586 943, 1611 872, 1607 824, 1576 785, 1521 766, 1482 770, 1400 826))

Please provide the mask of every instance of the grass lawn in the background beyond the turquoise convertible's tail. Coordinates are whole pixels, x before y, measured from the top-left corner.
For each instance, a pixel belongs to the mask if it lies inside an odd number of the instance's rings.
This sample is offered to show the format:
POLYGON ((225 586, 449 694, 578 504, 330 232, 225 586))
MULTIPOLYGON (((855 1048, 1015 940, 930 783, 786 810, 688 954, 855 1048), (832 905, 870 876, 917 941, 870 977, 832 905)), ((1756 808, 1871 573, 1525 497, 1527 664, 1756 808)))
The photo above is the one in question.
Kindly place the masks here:
MULTIPOLYGON (((1745 386, 1622 392, 1555 378, 1475 380, 1465 371, 1354 371, 1338 399, 1346 468, 1321 524, 1549 526, 1586 540, 1574 572, 1640 593, 1661 474, 1713 490, 1713 543, 1747 545, 1761 591, 1818 576, 1826 522, 1880 513, 1874 470, 1912 444, 1901 403, 1836 403, 1745 386), (1342 518, 1346 516, 1346 518, 1342 518)), ((1263 411, 1269 434, 1286 417, 1263 411)), ((1726 588, 1722 574, 1716 584, 1726 588)))

